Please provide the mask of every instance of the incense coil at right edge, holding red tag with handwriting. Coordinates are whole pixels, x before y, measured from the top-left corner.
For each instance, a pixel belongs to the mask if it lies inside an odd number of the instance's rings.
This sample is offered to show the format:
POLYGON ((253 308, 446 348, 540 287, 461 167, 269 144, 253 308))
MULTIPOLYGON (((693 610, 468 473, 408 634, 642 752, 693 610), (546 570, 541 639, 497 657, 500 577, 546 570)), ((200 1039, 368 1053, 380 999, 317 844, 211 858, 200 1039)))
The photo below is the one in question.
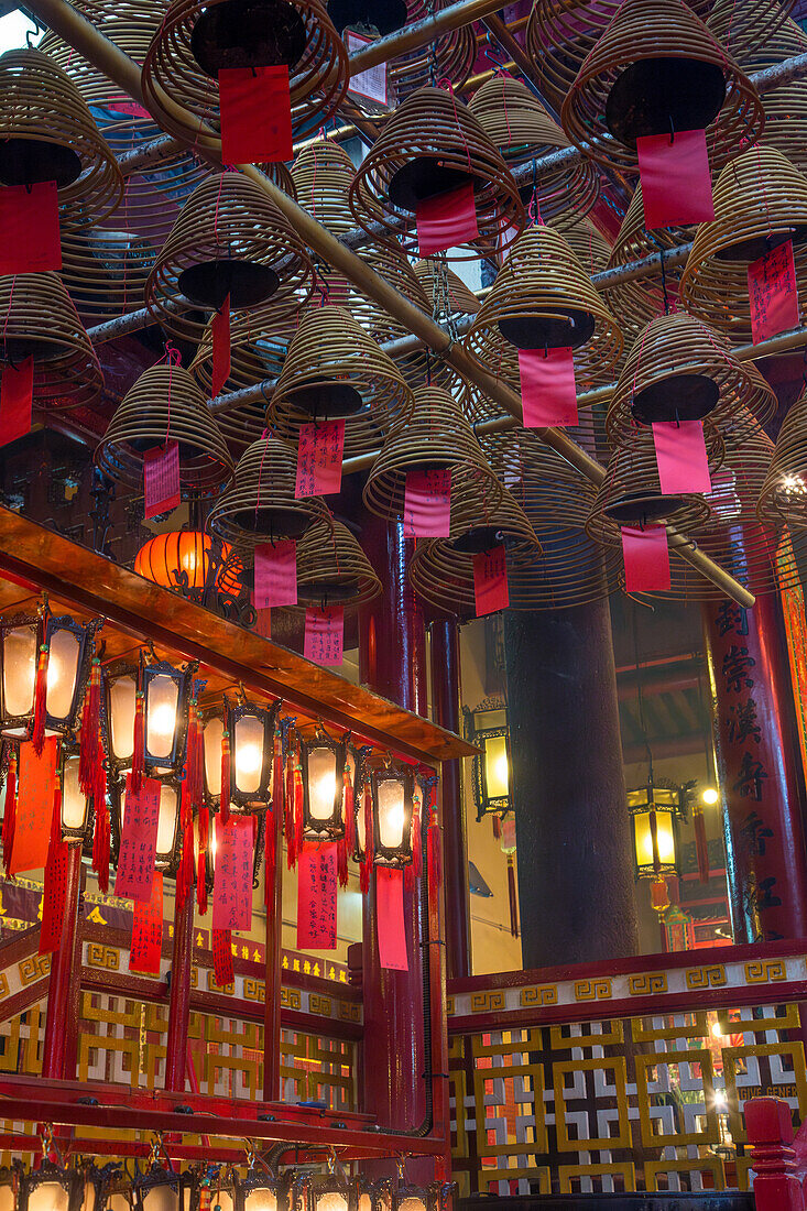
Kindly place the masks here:
POLYGON ((702 223, 681 277, 688 311, 731 340, 751 339, 748 266, 792 240, 800 295, 807 285, 807 177, 780 151, 754 147, 726 165, 715 219, 702 223))

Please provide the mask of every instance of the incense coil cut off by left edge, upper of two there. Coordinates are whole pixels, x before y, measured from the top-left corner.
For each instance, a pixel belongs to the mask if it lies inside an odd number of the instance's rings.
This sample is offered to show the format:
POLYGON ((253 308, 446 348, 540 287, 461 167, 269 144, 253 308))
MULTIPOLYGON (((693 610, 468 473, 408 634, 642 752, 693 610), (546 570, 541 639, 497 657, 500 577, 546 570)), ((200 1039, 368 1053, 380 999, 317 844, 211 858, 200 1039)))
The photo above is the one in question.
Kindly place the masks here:
POLYGON ((101 223, 124 182, 69 76, 33 48, 0 56, 0 185, 56 180, 61 222, 101 223))

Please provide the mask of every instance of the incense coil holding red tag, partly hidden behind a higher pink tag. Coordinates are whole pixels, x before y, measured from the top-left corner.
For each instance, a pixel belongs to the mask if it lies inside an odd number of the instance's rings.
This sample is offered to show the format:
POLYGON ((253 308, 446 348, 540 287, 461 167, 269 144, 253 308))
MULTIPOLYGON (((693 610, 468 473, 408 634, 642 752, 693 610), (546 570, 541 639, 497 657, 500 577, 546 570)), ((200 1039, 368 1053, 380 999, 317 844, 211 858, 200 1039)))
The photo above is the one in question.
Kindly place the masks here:
MULTIPOLYGON (((722 443, 706 435, 710 471, 720 466, 722 443), (711 449, 709 446, 711 444, 711 449)), ((608 459, 606 477, 586 521, 586 532, 597 543, 622 544, 623 526, 674 524, 686 534, 698 534, 709 521, 709 505, 698 493, 663 495, 656 461, 653 434, 634 429, 608 459)))

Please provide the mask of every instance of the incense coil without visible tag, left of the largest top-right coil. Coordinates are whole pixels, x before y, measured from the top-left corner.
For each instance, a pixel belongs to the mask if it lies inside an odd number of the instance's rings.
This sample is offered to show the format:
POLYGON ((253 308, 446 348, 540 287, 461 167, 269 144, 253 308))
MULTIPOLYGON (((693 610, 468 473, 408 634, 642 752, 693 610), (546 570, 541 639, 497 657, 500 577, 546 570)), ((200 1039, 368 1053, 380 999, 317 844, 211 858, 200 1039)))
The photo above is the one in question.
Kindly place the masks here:
MULTIPOLYGON (((521 80, 493 75, 479 88, 469 105, 480 126, 506 162, 536 160, 570 147, 562 130, 521 80)), ((534 185, 521 186, 527 206, 537 197, 545 223, 555 220, 560 230, 579 223, 600 196, 600 173, 590 160, 560 163, 542 172, 534 185)))

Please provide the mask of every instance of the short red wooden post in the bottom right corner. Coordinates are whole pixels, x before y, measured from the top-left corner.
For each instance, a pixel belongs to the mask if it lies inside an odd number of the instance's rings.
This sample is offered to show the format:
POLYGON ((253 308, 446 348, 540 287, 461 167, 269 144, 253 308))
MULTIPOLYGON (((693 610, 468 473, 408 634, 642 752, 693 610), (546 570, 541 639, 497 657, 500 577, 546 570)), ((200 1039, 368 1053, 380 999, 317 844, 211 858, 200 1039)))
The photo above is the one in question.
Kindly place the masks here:
POLYGON ((757 1211, 803 1211, 801 1181, 795 1173, 790 1107, 780 1097, 754 1097, 745 1106, 745 1130, 754 1146, 751 1169, 757 1211))

